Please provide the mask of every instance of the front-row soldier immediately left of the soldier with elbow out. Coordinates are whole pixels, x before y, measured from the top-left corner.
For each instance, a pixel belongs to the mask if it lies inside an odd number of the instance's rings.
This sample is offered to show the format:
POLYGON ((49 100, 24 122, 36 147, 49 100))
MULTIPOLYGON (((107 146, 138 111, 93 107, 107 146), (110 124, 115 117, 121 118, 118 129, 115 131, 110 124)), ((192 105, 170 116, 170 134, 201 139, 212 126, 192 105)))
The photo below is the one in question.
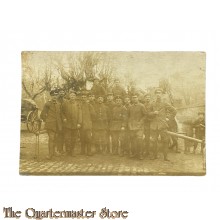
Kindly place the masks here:
POLYGON ((137 94, 132 95, 132 105, 128 109, 128 127, 130 130, 132 155, 143 159, 143 135, 146 109, 138 100, 137 94))

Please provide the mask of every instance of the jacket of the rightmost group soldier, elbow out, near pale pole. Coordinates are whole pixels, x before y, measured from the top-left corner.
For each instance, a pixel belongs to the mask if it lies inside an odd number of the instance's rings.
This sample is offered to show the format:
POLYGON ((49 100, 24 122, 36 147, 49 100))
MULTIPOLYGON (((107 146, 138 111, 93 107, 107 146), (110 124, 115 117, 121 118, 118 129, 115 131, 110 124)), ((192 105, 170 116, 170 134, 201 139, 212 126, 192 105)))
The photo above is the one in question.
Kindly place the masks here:
POLYGON ((176 115, 176 109, 170 104, 163 101, 154 101, 150 107, 149 117, 152 117, 150 128, 152 130, 167 129, 168 124, 166 118, 174 118, 176 115), (155 115, 154 111, 158 111, 159 114, 155 115))

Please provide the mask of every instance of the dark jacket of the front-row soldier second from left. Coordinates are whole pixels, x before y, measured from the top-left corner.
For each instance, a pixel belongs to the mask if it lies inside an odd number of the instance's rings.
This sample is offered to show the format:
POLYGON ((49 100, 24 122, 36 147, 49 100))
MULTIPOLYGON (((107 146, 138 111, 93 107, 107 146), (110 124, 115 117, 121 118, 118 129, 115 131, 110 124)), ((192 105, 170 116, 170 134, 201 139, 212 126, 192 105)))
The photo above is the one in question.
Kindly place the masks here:
POLYGON ((63 126, 70 129, 77 129, 77 124, 82 124, 82 109, 78 101, 67 100, 62 107, 63 119, 66 122, 63 126))

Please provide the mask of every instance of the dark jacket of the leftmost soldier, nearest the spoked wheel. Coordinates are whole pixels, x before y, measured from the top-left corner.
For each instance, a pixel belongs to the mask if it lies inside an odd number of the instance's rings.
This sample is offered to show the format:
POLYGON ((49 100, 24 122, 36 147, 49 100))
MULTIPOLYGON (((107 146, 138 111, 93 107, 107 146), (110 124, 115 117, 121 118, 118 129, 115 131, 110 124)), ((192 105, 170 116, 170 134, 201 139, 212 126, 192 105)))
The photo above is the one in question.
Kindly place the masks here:
POLYGON ((46 129, 62 130, 61 104, 51 100, 46 102, 40 118, 45 122, 46 129))

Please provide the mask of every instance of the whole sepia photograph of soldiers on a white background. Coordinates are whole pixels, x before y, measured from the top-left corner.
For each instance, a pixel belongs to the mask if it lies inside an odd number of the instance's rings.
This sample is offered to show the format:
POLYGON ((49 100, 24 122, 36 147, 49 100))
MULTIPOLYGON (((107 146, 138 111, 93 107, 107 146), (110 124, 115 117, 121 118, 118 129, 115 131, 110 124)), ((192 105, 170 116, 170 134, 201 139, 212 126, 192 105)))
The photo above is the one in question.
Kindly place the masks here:
POLYGON ((21 58, 21 175, 206 174, 205 52, 21 58))

